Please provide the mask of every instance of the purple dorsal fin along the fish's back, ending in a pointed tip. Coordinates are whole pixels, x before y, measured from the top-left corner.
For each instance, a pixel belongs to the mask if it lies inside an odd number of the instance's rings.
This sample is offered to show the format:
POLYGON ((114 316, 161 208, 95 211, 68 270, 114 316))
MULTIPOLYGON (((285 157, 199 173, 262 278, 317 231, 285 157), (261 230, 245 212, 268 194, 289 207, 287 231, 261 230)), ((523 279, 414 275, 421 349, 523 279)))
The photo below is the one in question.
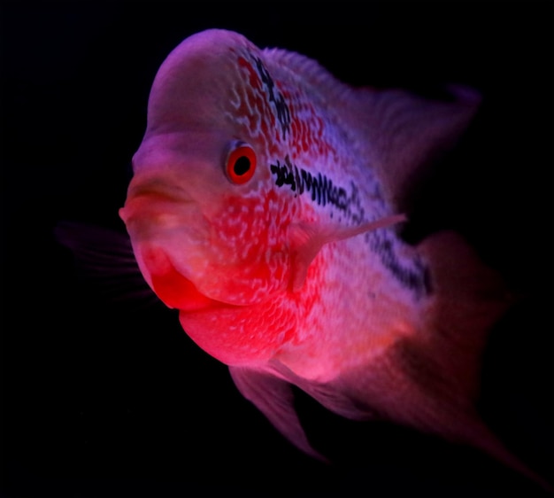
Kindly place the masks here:
POLYGON ((264 55, 316 101, 332 105, 345 126, 358 134, 365 146, 365 162, 380 175, 401 212, 409 210, 414 180, 455 144, 481 102, 476 91, 457 85, 447 89, 450 101, 430 100, 402 89, 355 89, 296 52, 265 49, 264 55))

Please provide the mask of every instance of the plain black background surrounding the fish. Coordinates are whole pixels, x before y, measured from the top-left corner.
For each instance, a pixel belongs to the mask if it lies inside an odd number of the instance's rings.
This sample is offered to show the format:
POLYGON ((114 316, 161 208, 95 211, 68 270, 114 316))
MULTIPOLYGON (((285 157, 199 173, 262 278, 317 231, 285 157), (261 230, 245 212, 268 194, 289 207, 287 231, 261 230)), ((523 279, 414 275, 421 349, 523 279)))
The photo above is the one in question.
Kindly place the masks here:
MULTIPOLYGON (((552 7, 535 2, 4 2, 4 496, 541 496, 471 448, 355 424, 299 396, 312 461, 163 306, 81 280, 59 220, 122 229, 130 158, 169 51, 208 27, 299 51, 345 82, 484 97, 412 214, 462 232, 522 299, 485 352, 479 406, 552 471, 552 7)), ((356 271, 353 266, 352 271, 356 271)))

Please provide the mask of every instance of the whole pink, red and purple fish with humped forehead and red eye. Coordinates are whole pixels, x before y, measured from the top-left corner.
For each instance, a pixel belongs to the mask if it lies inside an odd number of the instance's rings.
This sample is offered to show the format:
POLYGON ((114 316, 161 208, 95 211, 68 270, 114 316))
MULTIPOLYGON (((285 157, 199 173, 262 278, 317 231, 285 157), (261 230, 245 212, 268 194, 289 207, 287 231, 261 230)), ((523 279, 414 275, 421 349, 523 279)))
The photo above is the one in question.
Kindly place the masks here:
POLYGON ((404 243, 421 167, 466 128, 471 90, 432 102, 352 89, 242 35, 190 36, 153 83, 120 215, 183 329, 296 446, 291 384, 336 413, 388 418, 526 471, 473 400, 509 300, 456 235, 404 243))

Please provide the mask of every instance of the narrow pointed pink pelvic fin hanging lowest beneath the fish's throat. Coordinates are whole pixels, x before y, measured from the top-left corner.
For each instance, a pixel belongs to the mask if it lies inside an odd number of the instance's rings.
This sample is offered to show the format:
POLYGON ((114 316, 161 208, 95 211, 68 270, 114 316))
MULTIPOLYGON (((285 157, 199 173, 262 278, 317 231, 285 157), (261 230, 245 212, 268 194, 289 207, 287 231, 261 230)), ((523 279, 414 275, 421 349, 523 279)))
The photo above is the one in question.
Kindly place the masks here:
POLYGON ((304 453, 326 460, 312 448, 294 407, 292 386, 280 378, 258 370, 229 367, 231 377, 242 395, 269 419, 296 447, 304 453))

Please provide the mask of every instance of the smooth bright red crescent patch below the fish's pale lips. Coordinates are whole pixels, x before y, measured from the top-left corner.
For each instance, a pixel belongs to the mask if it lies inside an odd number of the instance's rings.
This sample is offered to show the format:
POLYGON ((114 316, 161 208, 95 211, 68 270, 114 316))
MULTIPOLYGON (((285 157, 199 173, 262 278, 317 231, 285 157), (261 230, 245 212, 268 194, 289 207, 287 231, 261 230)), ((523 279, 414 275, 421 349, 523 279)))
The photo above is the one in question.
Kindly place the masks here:
POLYGON ((218 300, 212 300, 200 292, 196 285, 184 276, 163 249, 146 245, 140 250, 141 262, 146 270, 147 280, 158 298, 167 307, 190 313, 221 307, 236 307, 218 300))

